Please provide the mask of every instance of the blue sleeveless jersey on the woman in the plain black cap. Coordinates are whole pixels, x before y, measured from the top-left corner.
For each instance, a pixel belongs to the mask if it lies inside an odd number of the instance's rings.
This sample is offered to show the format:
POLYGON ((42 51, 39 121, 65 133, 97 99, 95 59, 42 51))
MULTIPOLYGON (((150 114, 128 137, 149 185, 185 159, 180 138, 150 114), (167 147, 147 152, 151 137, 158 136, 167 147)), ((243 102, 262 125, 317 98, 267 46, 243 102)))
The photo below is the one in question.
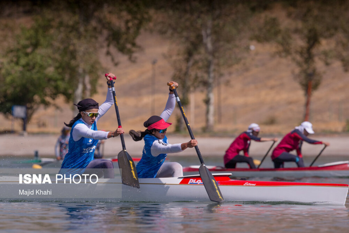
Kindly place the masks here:
MULTIPOLYGON (((84 124, 81 119, 77 120, 72 126, 72 130, 70 130, 69 151, 64 157, 59 174, 82 174, 87 165, 94 159, 98 140, 82 137, 75 142, 73 139, 73 129, 80 123, 84 124)), ((97 130, 96 122, 93 123, 91 129, 97 130)))

